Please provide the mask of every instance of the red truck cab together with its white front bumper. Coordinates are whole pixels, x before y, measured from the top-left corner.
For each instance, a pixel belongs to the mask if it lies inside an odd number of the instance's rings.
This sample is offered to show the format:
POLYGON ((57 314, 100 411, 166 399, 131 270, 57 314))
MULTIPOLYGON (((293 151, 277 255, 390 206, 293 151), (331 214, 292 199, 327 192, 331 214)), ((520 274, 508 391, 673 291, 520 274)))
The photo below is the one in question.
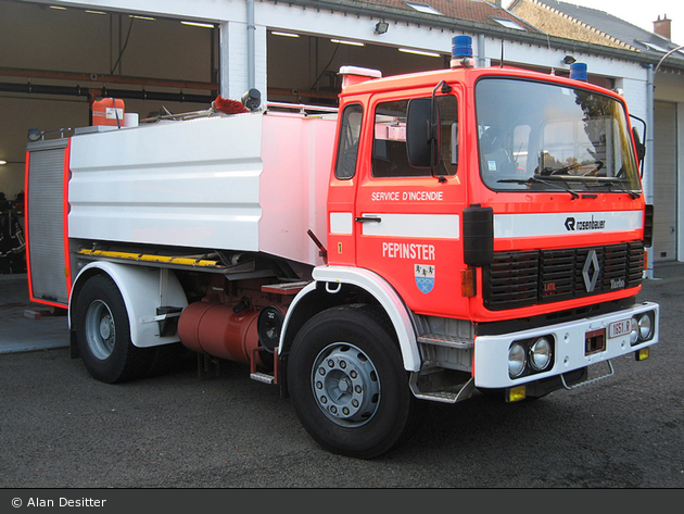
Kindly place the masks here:
POLYGON ((328 264, 391 285, 422 366, 430 344, 471 349, 476 387, 510 400, 644 358, 658 306, 635 304, 650 211, 623 98, 471 62, 343 89, 328 264))

